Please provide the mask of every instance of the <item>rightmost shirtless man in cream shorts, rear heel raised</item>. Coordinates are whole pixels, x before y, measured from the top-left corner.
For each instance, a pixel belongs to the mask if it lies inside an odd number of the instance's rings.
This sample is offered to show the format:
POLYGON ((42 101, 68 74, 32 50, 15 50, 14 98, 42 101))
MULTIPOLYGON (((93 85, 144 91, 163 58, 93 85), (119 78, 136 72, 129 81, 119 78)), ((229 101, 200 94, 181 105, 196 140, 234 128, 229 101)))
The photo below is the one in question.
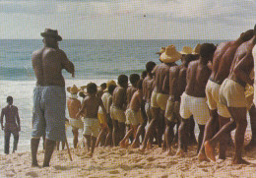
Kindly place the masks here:
POLYGON ((233 164, 248 163, 242 159, 242 148, 244 143, 244 134, 247 127, 246 112, 248 103, 245 98, 244 90, 246 84, 253 85, 250 78, 254 61, 252 57, 252 48, 255 45, 256 36, 242 43, 236 50, 233 62, 230 67, 230 74, 224 80, 220 89, 220 102, 227 107, 229 116, 232 118, 224 124, 223 128, 209 141, 205 143, 207 156, 215 161, 214 148, 225 133, 229 133, 233 128, 236 129, 234 135, 234 157, 233 164), (235 126, 236 125, 236 126, 235 126))

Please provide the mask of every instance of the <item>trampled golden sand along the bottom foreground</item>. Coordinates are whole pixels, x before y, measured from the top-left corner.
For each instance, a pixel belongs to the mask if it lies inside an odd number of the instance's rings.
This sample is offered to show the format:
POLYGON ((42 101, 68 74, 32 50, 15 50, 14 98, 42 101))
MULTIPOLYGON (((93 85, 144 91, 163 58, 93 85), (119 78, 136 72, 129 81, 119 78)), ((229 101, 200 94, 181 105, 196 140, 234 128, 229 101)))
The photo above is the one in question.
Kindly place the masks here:
MULTIPOLYGON (((256 177, 256 148, 243 152, 249 165, 231 164, 233 148, 227 151, 226 160, 217 162, 198 161, 195 146, 189 147, 185 157, 176 157, 175 152, 175 146, 170 156, 157 146, 145 152, 138 148, 96 148, 89 157, 85 148, 71 148, 73 161, 67 149, 56 150, 46 168, 31 166, 30 151, 19 152, 0 155, 0 177, 256 177)), ((37 157, 41 165, 42 150, 37 157)))

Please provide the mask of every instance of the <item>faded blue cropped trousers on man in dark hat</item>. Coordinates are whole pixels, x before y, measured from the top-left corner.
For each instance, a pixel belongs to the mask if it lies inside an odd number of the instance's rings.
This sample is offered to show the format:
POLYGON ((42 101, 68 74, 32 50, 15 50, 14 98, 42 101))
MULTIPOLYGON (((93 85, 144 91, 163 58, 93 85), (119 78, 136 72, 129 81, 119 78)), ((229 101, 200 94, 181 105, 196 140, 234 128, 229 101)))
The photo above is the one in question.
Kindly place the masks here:
POLYGON ((45 134, 46 139, 65 142, 65 109, 65 88, 36 86, 33 89, 32 138, 45 134))

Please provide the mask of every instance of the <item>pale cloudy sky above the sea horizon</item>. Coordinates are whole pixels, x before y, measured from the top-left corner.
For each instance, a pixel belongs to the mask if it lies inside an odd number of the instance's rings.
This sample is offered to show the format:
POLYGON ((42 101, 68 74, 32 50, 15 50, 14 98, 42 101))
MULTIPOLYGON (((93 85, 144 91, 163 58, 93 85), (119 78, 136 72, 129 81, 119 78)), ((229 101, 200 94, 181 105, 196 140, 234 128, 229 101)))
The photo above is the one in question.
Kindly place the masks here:
POLYGON ((235 39, 256 0, 0 0, 0 39, 235 39))

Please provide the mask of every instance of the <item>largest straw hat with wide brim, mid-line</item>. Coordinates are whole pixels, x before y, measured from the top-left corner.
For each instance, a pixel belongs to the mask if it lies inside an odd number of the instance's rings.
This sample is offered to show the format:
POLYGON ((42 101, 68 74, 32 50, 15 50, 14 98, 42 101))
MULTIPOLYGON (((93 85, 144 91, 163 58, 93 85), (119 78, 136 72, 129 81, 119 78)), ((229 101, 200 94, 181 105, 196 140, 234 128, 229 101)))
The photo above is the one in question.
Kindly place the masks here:
POLYGON ((165 52, 160 55, 160 61, 163 63, 176 62, 181 58, 181 54, 176 50, 176 47, 171 44, 165 48, 165 52))

